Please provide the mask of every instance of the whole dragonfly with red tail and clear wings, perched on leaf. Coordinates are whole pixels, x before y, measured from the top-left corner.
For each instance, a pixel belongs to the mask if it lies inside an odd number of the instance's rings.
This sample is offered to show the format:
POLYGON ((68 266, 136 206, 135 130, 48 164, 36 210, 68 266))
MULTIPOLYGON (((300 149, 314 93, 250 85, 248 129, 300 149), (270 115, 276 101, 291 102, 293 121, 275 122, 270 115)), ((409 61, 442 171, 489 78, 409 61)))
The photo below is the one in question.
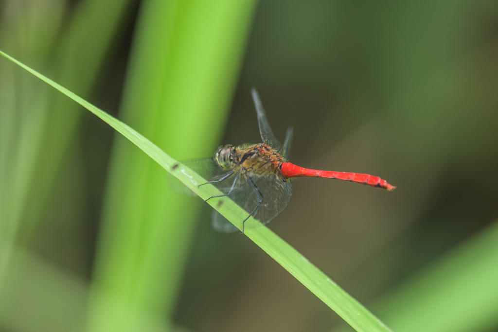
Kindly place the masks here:
MULTIPOLYGON (((212 184, 222 192, 222 195, 212 196, 205 202, 229 197, 248 213, 246 219, 242 221, 242 234, 249 217, 252 216, 259 221, 256 224, 266 224, 285 209, 292 195, 293 178, 339 179, 388 191, 396 188, 378 176, 320 171, 287 162, 292 141, 292 126, 288 127, 285 140, 281 144, 271 130, 259 95, 254 88, 251 90, 251 95, 256 109, 261 143, 239 146, 228 144, 219 147, 212 158, 182 162, 207 180, 200 186, 212 184)), ((168 183, 176 192, 196 196, 170 174, 168 174, 168 183)), ((216 210, 212 213, 212 225, 219 232, 231 233, 239 230, 216 210)))

